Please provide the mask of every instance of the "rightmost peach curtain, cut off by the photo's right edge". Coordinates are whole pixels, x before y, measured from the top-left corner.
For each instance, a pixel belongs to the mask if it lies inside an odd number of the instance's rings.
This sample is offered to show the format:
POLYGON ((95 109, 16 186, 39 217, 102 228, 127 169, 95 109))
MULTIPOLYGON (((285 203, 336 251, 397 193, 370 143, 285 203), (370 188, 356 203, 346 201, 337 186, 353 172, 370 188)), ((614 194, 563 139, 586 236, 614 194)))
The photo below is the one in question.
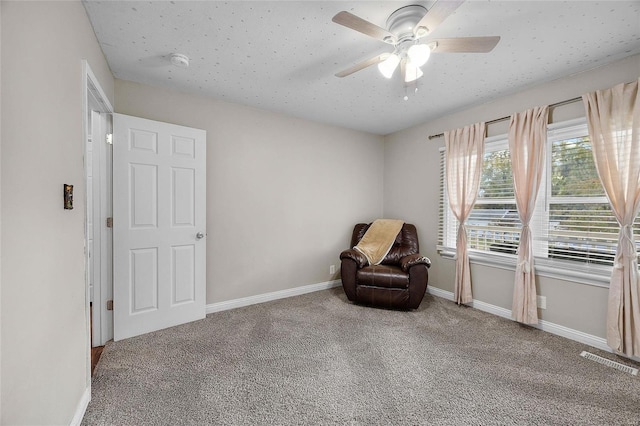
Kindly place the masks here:
POLYGON ((640 209, 639 82, 582 96, 598 175, 620 224, 609 286, 607 344, 632 356, 640 356, 640 284, 633 236, 640 209))

